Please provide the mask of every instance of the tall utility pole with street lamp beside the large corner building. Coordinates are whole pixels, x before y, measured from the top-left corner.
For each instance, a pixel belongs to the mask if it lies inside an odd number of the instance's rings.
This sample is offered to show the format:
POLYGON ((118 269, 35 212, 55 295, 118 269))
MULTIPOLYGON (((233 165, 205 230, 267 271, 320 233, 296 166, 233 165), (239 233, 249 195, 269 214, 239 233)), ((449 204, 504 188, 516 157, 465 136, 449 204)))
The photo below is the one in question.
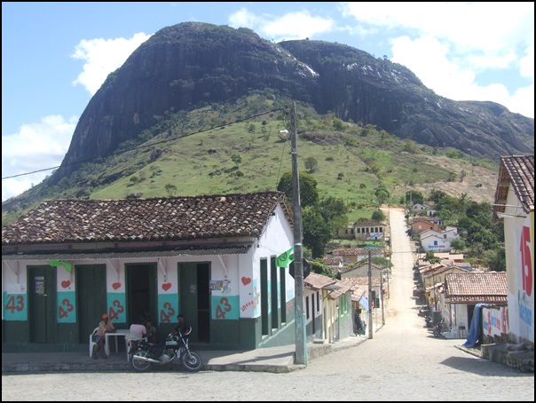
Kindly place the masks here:
POLYGON ((296 320, 296 364, 307 365, 307 340, 303 315, 303 248, 302 203, 300 201, 300 173, 296 130, 296 101, 292 110, 292 213, 294 222, 294 288, 296 320))

